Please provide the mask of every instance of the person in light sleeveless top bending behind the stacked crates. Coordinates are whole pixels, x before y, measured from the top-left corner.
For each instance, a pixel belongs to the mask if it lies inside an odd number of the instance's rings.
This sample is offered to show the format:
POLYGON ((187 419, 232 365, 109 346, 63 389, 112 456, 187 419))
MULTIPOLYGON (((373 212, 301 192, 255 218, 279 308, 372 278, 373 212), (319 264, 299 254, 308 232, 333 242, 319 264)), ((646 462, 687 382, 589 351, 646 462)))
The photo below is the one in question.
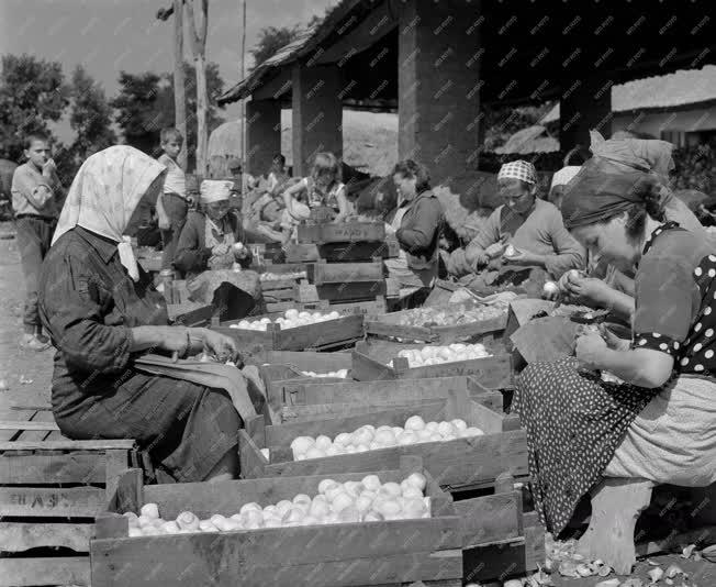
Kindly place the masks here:
POLYGON ((343 222, 350 214, 351 207, 346 196, 346 186, 339 178, 339 169, 340 165, 333 153, 318 153, 311 176, 304 177, 283 192, 283 224, 290 228, 289 237, 292 235, 292 229, 306 218, 305 207, 310 214, 318 212, 322 208, 328 209, 335 214, 334 222, 343 222), (297 206, 299 203, 303 206, 297 206))

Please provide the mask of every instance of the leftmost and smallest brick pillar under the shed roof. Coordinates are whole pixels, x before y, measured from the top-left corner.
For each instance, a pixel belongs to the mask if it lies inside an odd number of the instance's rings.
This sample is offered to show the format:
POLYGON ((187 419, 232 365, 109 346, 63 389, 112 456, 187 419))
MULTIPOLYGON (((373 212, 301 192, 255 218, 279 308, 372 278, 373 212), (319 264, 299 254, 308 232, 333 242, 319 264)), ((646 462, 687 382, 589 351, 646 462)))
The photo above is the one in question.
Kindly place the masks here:
POLYGON ((281 103, 278 100, 246 102, 247 171, 254 176, 267 173, 277 153, 281 153, 281 103))

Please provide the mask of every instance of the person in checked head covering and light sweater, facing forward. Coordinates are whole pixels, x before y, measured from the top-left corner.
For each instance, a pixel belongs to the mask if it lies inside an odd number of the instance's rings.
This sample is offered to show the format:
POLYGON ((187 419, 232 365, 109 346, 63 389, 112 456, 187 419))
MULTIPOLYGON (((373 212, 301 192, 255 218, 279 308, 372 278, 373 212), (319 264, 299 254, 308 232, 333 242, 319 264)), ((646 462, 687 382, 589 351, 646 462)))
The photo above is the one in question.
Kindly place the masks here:
POLYGON ((506 263, 542 268, 552 278, 584 267, 584 250, 567 232, 559 210, 537 199, 537 173, 532 163, 504 164, 497 174, 497 189, 505 203, 492 212, 465 250, 450 254, 449 273, 458 277, 478 273, 499 262, 508 245, 515 254, 505 258, 506 263))

